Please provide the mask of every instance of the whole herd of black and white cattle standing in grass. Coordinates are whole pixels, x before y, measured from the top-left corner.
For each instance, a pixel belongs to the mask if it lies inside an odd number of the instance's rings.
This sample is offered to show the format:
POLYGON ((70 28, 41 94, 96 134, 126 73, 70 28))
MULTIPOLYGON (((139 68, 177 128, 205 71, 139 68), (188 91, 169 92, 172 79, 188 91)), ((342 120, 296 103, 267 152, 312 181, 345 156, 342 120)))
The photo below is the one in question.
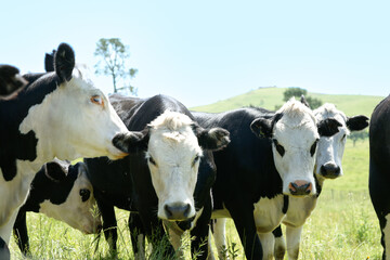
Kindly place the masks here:
MULTIPOLYGON (((213 259, 205 243, 211 230, 224 259, 225 218, 232 218, 247 259, 284 259, 286 251, 298 259, 324 181, 342 176, 346 136, 368 126, 367 117, 347 117, 333 104, 312 110, 303 98, 277 112, 219 114, 190 112, 165 95, 107 99, 75 66, 66 43, 47 54, 46 69, 20 76, 0 65, 0 259, 10 259, 12 229, 29 253, 27 211, 86 234, 103 230, 115 251, 114 206, 130 211, 138 258, 145 238, 168 242, 166 255, 180 257, 188 230, 192 253, 213 259)), ((389 123, 387 98, 369 129, 369 192, 384 259, 390 259, 389 123)))

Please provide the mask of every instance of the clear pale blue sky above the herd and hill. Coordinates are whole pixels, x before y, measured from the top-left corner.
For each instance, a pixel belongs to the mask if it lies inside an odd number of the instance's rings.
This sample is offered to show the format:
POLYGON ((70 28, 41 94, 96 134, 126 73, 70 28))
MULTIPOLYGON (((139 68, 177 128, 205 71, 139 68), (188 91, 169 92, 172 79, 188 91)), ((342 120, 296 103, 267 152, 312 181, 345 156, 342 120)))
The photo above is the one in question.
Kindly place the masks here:
MULTIPOLYGON (((388 95, 390 1, 3 1, 0 63, 42 72, 68 42, 91 67, 100 38, 130 46, 139 96, 209 104, 258 87, 388 95)), ((98 77, 106 93, 110 80, 98 77)))

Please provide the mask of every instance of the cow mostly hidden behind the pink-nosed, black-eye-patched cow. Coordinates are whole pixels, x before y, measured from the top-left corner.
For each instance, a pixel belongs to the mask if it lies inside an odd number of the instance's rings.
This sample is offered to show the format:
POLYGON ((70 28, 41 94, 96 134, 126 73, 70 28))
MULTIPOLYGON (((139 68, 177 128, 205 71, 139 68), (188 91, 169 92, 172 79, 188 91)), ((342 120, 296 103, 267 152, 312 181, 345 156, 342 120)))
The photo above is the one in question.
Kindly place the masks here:
MULTIPOLYGON (((304 104, 306 101, 301 100, 301 102, 304 104)), ((316 194, 304 198, 288 197, 288 208, 286 217, 283 219, 283 223, 287 226, 288 259, 298 259, 302 226, 315 208, 324 181, 326 179, 336 179, 343 174, 341 159, 347 135, 350 131, 363 130, 368 126, 367 117, 363 115, 347 117, 344 113, 338 110, 334 104, 329 103, 313 110, 313 114, 317 121, 336 119, 340 123, 340 127, 338 128, 338 133, 333 136, 320 136, 314 168, 314 179, 317 187, 316 194)), ((221 253, 222 248, 226 247, 224 223, 225 220, 221 219, 213 222, 213 235, 219 253, 221 253)), ((284 259, 286 245, 281 226, 277 226, 273 231, 273 235, 270 233, 260 234, 260 237, 263 250, 266 251, 266 258, 264 256, 264 259, 272 259, 273 257, 275 257, 275 259, 284 259), (272 248, 274 248, 274 250, 272 250, 272 248)))

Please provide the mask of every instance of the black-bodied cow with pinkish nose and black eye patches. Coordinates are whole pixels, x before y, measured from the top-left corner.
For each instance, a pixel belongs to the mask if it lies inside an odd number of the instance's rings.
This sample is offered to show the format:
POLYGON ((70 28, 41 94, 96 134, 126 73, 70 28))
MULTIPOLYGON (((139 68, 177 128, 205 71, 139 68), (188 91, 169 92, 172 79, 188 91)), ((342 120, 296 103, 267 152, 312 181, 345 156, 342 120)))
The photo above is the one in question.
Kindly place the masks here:
POLYGON ((317 121, 295 100, 276 113, 247 107, 193 114, 202 127, 231 133, 231 144, 213 153, 218 173, 212 218, 232 218, 247 259, 262 259, 257 233, 272 232, 281 223, 289 196, 316 194, 317 142, 335 134, 340 125, 334 119, 317 121))

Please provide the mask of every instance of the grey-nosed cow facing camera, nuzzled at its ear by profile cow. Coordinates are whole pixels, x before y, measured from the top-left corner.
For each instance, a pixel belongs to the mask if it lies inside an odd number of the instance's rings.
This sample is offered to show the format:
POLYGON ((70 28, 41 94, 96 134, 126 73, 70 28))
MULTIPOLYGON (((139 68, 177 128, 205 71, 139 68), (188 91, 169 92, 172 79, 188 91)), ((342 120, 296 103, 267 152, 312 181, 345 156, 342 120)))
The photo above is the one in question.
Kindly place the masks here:
MULTIPOLYGON (((198 238, 193 248, 199 249, 202 238, 208 237, 210 188, 216 179, 211 151, 227 145, 229 132, 199 127, 187 108, 172 98, 113 95, 110 102, 129 130, 145 132, 139 152, 128 158, 114 162, 104 157, 84 160, 110 247, 116 248, 117 234, 112 227, 116 226, 117 206, 138 212, 130 216, 129 224, 142 229, 152 243, 161 239, 159 219, 188 220, 184 225, 190 229, 193 220, 203 222, 202 229, 192 230, 198 238), (107 174, 115 178, 107 180, 107 174)), ((123 150, 127 146, 123 142, 123 150)), ((135 236, 132 240, 138 252, 143 248, 136 247, 135 236)), ((207 245, 202 246, 207 255, 207 245)))

